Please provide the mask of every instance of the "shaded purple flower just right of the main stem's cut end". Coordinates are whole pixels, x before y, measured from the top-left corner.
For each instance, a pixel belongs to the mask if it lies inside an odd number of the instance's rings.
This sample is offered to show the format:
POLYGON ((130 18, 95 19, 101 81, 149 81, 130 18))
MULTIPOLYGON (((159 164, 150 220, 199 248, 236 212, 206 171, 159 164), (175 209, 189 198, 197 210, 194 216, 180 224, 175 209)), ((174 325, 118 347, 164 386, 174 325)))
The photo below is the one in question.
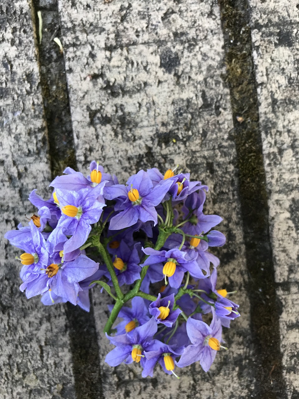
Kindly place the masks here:
MULTIPOLYGON (((134 328, 149 321, 148 307, 144 303, 144 299, 140 296, 134 296, 131 303, 132 308, 123 306, 118 313, 118 317, 124 319, 115 327, 118 335, 131 332, 134 328)), ((112 311, 113 305, 108 305, 108 308, 112 311)))

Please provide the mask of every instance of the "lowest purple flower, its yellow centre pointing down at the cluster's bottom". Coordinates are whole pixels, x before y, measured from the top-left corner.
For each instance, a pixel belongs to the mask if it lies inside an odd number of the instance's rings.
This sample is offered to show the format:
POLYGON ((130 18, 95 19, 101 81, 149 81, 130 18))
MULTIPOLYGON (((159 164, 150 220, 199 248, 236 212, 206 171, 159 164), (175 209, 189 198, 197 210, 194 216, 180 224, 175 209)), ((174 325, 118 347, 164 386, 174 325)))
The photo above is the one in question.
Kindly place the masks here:
POLYGON ((142 371, 142 377, 148 377, 148 375, 153 377, 153 369, 158 362, 165 373, 173 374, 179 378, 173 371, 175 369, 175 358, 181 355, 185 348, 183 346, 177 348, 177 346, 166 345, 163 342, 159 342, 159 344, 160 347, 156 350, 144 351, 146 363, 142 371))

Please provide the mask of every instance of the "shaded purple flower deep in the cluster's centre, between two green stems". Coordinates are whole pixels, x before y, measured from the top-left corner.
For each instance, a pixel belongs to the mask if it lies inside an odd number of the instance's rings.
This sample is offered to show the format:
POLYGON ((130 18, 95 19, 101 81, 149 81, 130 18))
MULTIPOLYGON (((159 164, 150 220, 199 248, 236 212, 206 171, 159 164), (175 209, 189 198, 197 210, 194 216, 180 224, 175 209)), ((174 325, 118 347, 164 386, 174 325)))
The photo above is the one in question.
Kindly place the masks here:
POLYGON ((138 245, 139 243, 136 243, 133 249, 130 249, 124 241, 120 243, 117 250, 117 256, 115 256, 113 262, 120 285, 132 284, 134 281, 140 279, 141 269, 139 266, 140 259, 137 251, 138 245))

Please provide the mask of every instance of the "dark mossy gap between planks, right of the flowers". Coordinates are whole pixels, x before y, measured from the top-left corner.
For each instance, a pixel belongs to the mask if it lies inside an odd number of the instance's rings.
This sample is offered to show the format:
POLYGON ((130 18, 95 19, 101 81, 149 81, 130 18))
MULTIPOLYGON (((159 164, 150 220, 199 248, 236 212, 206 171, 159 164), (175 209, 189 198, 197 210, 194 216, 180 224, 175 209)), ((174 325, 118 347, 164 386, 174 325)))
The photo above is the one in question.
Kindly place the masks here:
POLYGON ((261 399, 284 399, 279 306, 269 239, 266 177, 248 4, 247 0, 218 2, 225 43, 226 74, 223 79, 230 88, 246 263, 250 275, 248 292, 255 344, 252 368, 256 371, 256 393, 261 399))

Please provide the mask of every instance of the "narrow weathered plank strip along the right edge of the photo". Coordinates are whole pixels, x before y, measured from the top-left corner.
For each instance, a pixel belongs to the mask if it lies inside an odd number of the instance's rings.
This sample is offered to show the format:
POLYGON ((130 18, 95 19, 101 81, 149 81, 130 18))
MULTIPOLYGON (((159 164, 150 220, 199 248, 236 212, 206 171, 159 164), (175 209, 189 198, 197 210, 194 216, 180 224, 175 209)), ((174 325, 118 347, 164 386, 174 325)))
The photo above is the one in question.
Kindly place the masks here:
POLYGON ((282 303, 281 352, 289 398, 299 397, 299 103, 296 1, 250 0, 252 43, 268 185, 275 280, 282 303))

